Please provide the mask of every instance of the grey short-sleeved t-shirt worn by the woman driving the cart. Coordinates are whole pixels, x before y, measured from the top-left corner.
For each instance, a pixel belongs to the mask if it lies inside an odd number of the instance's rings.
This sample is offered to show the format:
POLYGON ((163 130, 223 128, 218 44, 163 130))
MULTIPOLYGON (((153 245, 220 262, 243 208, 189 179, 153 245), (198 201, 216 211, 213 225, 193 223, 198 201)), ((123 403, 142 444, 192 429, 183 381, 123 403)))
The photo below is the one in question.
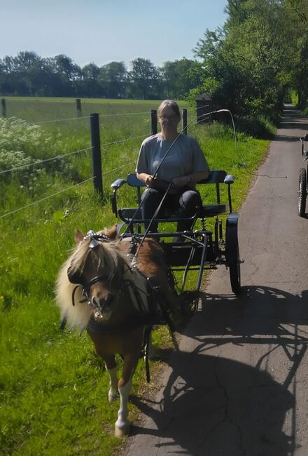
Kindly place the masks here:
MULTIPOLYGON (((154 175, 172 142, 162 138, 160 133, 146 138, 141 144, 136 172, 154 175)), ((180 135, 169 150, 156 177, 170 182, 174 177, 200 171, 209 171, 200 145, 193 136, 180 135)))

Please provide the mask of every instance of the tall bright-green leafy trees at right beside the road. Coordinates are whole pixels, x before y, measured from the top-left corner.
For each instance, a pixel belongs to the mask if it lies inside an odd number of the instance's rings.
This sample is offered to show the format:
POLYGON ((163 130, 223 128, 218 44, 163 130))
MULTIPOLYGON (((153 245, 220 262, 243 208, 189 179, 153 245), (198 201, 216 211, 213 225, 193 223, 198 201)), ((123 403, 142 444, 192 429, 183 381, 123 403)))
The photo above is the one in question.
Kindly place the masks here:
POLYGON ((228 0, 222 29, 197 43, 202 84, 217 106, 241 119, 274 119, 290 93, 308 102, 308 1, 228 0))

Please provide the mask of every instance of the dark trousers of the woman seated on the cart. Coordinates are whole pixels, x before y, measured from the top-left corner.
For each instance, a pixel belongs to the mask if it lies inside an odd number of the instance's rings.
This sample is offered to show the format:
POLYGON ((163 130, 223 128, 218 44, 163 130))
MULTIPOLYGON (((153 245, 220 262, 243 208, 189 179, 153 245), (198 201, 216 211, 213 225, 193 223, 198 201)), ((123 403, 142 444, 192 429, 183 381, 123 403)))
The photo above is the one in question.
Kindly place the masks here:
MULTIPOLYGON (((148 188, 142 195, 142 217, 144 219, 151 219, 155 213, 155 210, 160 205, 162 197, 165 192, 157 189, 148 188)), ((174 214, 179 213, 179 217, 192 217, 195 213, 198 213, 202 207, 202 201, 200 193, 197 190, 183 189, 183 192, 177 194, 167 194, 162 208, 156 216, 157 218, 166 217, 166 213, 174 214)), ((146 223, 146 228, 149 223, 146 223)), ((192 222, 190 220, 183 220, 178 222, 176 230, 183 232, 190 230, 192 222)), ((158 223, 153 220, 151 223, 151 232, 158 231, 158 223)))

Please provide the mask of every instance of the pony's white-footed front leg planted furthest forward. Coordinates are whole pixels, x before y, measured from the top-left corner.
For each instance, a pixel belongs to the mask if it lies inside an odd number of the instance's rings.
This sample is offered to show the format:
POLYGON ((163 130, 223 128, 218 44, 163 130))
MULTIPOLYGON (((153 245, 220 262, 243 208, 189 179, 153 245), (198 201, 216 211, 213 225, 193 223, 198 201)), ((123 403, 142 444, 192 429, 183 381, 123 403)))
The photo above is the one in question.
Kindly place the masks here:
POLYGON ((120 394, 120 408, 118 410, 118 420, 116 420, 115 436, 123 437, 130 432, 130 422, 128 421, 128 398, 132 389, 132 375, 137 366, 139 357, 133 356, 128 359, 124 358, 123 376, 118 382, 120 394))

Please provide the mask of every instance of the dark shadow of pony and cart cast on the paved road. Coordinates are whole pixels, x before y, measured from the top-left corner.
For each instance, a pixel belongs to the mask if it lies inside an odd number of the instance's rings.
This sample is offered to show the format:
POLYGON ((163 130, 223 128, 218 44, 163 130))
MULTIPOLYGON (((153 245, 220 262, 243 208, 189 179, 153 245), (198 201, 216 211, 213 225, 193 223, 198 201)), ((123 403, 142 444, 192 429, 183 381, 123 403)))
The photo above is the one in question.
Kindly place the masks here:
POLYGON ((308 322, 305 296, 307 291, 294 296, 257 286, 244 288, 237 298, 207 294, 186 328, 196 348, 172 354, 166 386, 156 401, 132 397, 149 417, 145 427, 133 426, 132 433, 143 434, 147 441, 153 438, 156 450, 165 446, 175 454, 293 454, 295 429, 287 436, 283 423, 295 405, 288 386, 307 349, 307 338, 290 333, 284 325, 295 328, 308 322), (261 370, 265 356, 251 367, 208 354, 211 347, 228 342, 275 344, 283 348, 292 368, 281 384, 261 370))

